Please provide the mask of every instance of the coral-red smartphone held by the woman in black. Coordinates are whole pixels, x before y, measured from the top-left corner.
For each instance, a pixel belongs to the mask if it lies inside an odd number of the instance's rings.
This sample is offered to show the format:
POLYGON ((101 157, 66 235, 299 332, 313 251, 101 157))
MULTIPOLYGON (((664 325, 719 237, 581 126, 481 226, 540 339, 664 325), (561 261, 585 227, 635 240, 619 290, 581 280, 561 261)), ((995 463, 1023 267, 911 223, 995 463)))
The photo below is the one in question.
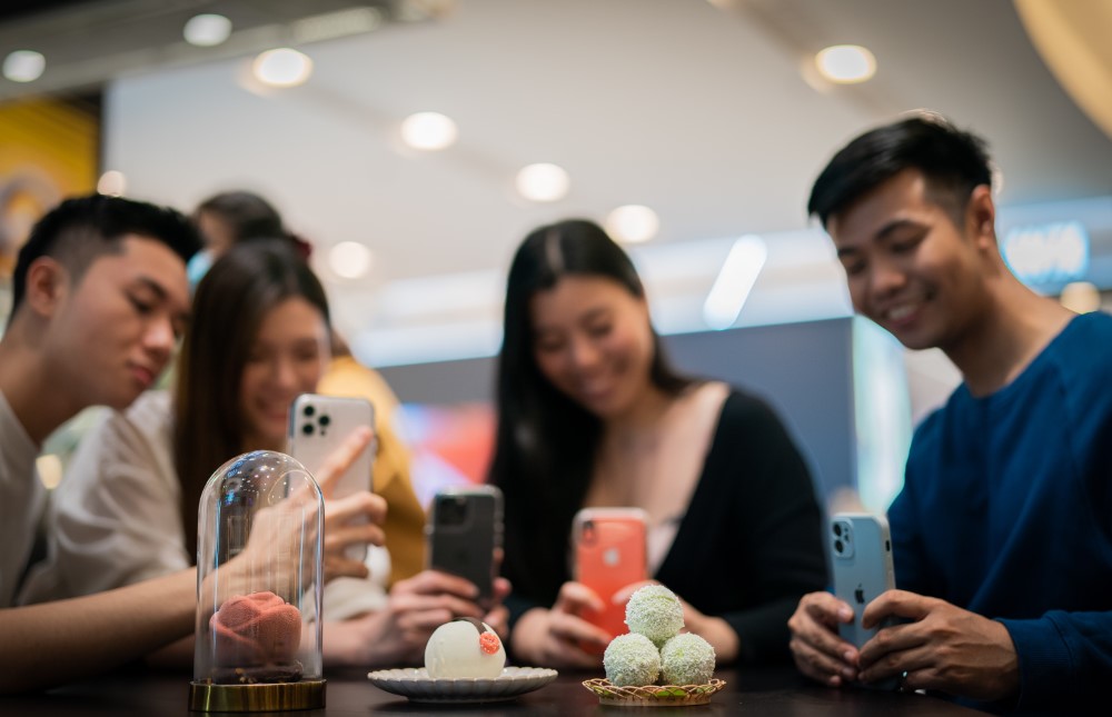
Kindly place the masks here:
POLYGON ((625 605, 614 605, 614 594, 648 579, 646 524, 641 508, 584 508, 573 522, 575 579, 606 603, 602 613, 582 617, 610 635, 629 631, 625 605))

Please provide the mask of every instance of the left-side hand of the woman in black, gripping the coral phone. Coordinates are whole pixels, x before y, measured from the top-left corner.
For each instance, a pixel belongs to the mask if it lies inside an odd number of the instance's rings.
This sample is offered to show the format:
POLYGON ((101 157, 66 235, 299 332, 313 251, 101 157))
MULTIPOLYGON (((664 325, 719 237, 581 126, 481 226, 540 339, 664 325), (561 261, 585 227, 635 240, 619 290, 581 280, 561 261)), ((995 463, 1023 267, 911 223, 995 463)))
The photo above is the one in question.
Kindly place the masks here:
POLYGON ((534 608, 517 620, 514 651, 535 665, 597 668, 610 635, 580 615, 600 613, 604 607, 603 599, 587 586, 565 582, 552 608, 534 608))

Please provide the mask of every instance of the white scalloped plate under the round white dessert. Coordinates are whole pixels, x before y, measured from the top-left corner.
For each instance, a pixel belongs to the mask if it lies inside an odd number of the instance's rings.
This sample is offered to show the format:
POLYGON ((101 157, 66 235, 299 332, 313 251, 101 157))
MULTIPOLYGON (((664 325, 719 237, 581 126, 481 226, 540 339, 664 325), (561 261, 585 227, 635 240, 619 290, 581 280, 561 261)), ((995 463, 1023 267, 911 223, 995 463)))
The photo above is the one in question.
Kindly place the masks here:
POLYGON ((556 670, 543 667, 507 667, 493 678, 439 678, 424 667, 379 669, 367 675, 371 685, 415 703, 493 703, 514 699, 540 689, 556 679, 556 670))

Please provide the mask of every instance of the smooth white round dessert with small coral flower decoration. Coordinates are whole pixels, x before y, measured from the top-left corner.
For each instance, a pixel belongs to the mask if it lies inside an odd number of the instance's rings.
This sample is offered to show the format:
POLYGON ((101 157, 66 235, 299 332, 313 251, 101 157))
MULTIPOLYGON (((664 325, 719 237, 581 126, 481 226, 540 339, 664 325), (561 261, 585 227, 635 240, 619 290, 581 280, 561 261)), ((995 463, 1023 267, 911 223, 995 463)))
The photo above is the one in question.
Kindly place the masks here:
POLYGON ((425 645, 425 669, 434 679, 486 678, 502 675, 506 649, 486 623, 460 618, 436 628, 425 645))

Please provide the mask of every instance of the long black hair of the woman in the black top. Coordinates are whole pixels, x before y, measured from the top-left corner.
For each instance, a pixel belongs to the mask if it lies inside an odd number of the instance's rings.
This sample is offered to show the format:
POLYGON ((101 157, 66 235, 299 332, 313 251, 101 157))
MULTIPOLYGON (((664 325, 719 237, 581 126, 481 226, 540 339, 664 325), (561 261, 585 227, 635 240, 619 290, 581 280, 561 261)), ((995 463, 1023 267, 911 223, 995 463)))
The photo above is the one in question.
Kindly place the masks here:
MULTIPOLYGON (((645 296, 629 257, 586 220, 536 229, 509 268, 489 479, 506 499, 504 572, 515 592, 546 604, 567 574, 568 532, 583 507, 602 434, 602 421, 556 389, 534 356, 529 301, 569 275, 604 277, 645 296)), ((678 394, 692 381, 671 367, 655 331, 653 339, 649 380, 678 394)))

